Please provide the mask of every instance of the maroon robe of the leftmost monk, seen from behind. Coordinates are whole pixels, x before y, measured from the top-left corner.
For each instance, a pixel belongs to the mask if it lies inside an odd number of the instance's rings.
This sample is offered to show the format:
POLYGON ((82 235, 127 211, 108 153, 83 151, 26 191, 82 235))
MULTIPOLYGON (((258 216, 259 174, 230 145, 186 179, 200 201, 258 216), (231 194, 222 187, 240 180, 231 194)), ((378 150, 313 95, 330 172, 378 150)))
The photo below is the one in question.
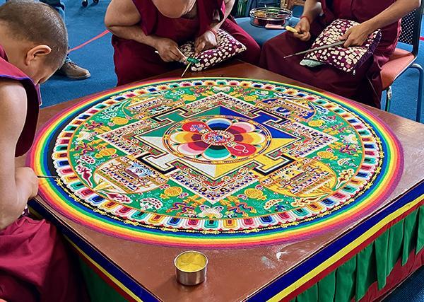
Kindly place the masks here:
MULTIPOLYGON (((16 145, 16 156, 20 156, 33 143, 40 93, 27 75, 7 62, 1 46, 0 78, 19 81, 27 93, 27 117, 16 145)), ((73 270, 56 228, 47 221, 21 216, 0 230, 0 299, 85 301, 84 287, 73 270)))

